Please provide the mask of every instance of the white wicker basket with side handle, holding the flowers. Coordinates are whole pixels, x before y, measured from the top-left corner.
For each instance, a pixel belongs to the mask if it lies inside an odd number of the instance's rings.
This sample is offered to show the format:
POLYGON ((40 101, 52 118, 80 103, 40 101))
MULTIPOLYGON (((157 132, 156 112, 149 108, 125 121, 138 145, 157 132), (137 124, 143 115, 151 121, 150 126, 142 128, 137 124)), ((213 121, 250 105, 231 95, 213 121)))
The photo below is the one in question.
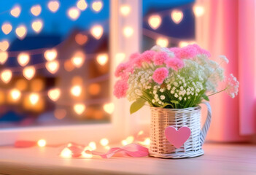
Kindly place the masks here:
POLYGON ((209 103, 206 122, 201 130, 201 107, 186 109, 163 109, 151 107, 150 156, 156 158, 194 158, 203 155, 202 145, 211 123, 212 110, 209 103), (168 126, 190 128, 189 139, 177 149, 165 136, 168 126))

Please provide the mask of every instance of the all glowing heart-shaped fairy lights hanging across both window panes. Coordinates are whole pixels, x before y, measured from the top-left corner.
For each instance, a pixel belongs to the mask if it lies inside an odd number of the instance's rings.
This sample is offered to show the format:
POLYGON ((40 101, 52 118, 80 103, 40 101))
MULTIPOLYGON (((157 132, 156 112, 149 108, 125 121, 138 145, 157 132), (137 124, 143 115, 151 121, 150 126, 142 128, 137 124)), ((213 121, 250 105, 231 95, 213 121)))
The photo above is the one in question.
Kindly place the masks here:
MULTIPOLYGON (((78 0, 74 7, 70 7, 67 9, 66 14, 68 15, 70 20, 77 20, 81 14, 82 11, 87 9, 89 4, 85 0, 78 0)), ((50 0, 47 3, 47 8, 50 10, 50 12, 57 12, 60 7, 60 1, 58 0, 50 0)), ((101 11, 101 9, 104 7, 103 1, 101 0, 95 0, 92 1, 90 4, 91 9, 98 13, 101 11)), ((12 9, 8 10, 7 12, 12 15, 13 18, 18 18, 20 16, 20 13, 22 11, 22 7, 20 5, 15 5, 15 7, 12 7, 12 9)), ((35 17, 39 16, 42 13, 42 7, 40 4, 35 4, 30 9, 31 15, 34 15, 35 17)), ((195 14, 195 17, 201 17, 204 13, 204 8, 200 5, 195 4, 193 7, 193 12, 195 14)), ((123 18, 128 17, 128 15, 131 14, 131 6, 129 4, 122 4, 120 6, 120 15, 123 16, 123 18)), ((162 18, 163 16, 170 15, 170 19, 176 23, 177 25, 181 23, 182 19, 184 18, 184 14, 181 9, 173 9, 173 10, 165 10, 162 12, 158 12, 157 14, 150 15, 145 18, 147 20, 148 25, 152 30, 157 30, 160 28, 162 24, 162 18)), ((43 20, 36 19, 31 23, 31 28, 36 32, 36 34, 39 34, 42 31, 42 28, 44 27, 43 20)), ((5 22, 1 25, 1 31, 5 34, 11 34, 12 31, 15 31, 15 35, 18 37, 18 39, 24 39, 27 34, 27 27, 25 25, 20 25, 15 30, 12 28, 12 24, 9 22, 5 22)), ((123 35, 126 38, 129 38, 133 36, 133 26, 125 26, 123 28, 123 35)), ((101 39, 101 36, 104 34, 104 27, 102 25, 97 24, 96 26, 92 26, 90 28, 90 32, 87 34, 79 33, 75 36, 75 41, 79 45, 83 45, 88 40, 88 34, 93 36, 95 39, 101 39)), ((179 47, 184 47, 187 44, 191 44, 193 42, 186 42, 186 41, 180 41, 180 39, 176 39, 169 36, 164 36, 162 34, 158 34, 155 31, 148 30, 146 28, 143 28, 143 34, 145 36, 149 36, 152 39, 155 39, 156 44, 160 45, 161 47, 167 47, 170 41, 176 41, 179 42, 179 47)), ((36 74, 37 69, 47 69, 47 71, 50 72, 50 74, 56 74, 58 70, 60 69, 60 62, 62 60, 58 60, 58 46, 53 48, 42 48, 37 50, 28 50, 28 51, 7 51, 9 48, 9 42, 7 39, 4 39, 0 42, 0 64, 4 65, 4 63, 7 62, 9 56, 17 58, 19 67, 12 67, 12 68, 5 68, 0 72, 0 79, 5 84, 8 84, 12 79, 12 73, 13 72, 22 72, 23 77, 25 77, 27 80, 31 80, 34 78, 36 74), (45 58, 45 63, 39 63, 35 65, 28 66, 28 63, 31 61, 30 56, 36 55, 36 54, 43 54, 45 58)), ((69 62, 64 63, 64 67, 69 67, 66 65, 69 65, 70 63, 74 66, 74 68, 79 69, 84 63, 85 58, 95 58, 99 66, 104 66, 109 58, 106 53, 101 54, 90 54, 85 55, 84 52, 77 51, 75 54, 70 58, 69 62)), ((125 59, 125 53, 118 52, 115 55, 115 59, 118 60, 118 62, 121 62, 125 59)), ((68 69, 66 69, 69 71, 68 69)), ((108 77, 104 77, 104 79, 97 79, 96 81, 102 81, 105 80, 108 77)), ((95 84, 94 84, 95 85, 95 84)), ((47 96, 52 101, 58 101, 58 99, 61 96, 61 89, 60 88, 53 88, 46 92, 42 92, 42 94, 47 94, 47 96)), ((7 90, 13 101, 19 101, 21 95, 23 92, 18 90, 18 88, 13 88, 11 90, 7 90)), ((82 93, 82 85, 73 85, 70 88, 70 93, 74 97, 78 97, 82 93)), ((42 95, 41 94, 41 95, 42 95)), ((30 93, 28 96, 28 99, 31 103, 31 105, 35 105, 39 102, 40 93, 30 93)), ((78 103, 73 104, 74 112, 77 114, 82 114, 85 112, 86 106, 85 103, 78 103)), ((114 111, 114 104, 112 103, 106 103, 103 106, 103 109, 105 112, 111 114, 114 111)))

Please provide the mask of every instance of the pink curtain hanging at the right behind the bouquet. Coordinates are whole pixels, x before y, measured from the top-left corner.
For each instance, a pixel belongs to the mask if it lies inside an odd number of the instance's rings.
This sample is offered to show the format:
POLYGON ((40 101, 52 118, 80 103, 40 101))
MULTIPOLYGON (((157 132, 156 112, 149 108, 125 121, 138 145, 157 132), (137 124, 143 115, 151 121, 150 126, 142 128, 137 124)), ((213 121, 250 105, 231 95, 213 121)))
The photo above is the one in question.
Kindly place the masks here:
POLYGON ((250 141, 256 131, 256 1, 201 0, 198 3, 206 8, 206 14, 198 19, 201 25, 198 43, 210 50, 213 58, 226 55, 230 63, 225 70, 240 82, 238 97, 232 99, 220 93, 210 98, 213 116, 208 139, 250 141))

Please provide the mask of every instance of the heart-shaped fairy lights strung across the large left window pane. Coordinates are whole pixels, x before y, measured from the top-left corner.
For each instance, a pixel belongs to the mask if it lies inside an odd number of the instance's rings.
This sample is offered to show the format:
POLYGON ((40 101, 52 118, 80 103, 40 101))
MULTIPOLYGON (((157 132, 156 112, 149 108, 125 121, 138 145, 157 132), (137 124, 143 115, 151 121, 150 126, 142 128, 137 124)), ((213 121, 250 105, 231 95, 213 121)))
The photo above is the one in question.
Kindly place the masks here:
MULTIPOLYGON (((60 5, 61 5, 60 1, 50 0, 47 3, 47 8, 50 10, 50 12, 55 13, 58 11, 60 5)), ((67 12, 66 12, 69 19, 71 20, 77 20, 81 12, 88 8, 88 3, 85 0, 79 0, 75 5, 76 6, 70 7, 69 9, 67 9, 67 12)), ((103 8, 103 1, 93 1, 90 5, 91 5, 91 9, 97 13, 97 12, 100 12, 101 9, 103 8)), ((7 10, 6 12, 9 12, 10 15, 12 15, 12 17, 14 18, 18 18, 20 16, 21 11, 22 11, 22 7, 20 7, 20 5, 17 4, 15 5, 15 7, 12 7, 12 9, 7 10)), ((42 12, 41 5, 40 4, 33 5, 30 9, 30 12, 31 12, 31 15, 34 15, 35 17, 39 16, 42 12)), ((39 34, 42 31, 43 26, 44 26, 44 23, 43 23, 43 20, 41 19, 36 19, 31 23, 31 28, 36 32, 36 34, 39 34)), ((5 22, 1 25, 1 31, 6 35, 11 34, 11 32, 14 31, 15 35, 20 40, 24 39, 27 35, 27 27, 25 25, 20 25, 14 30, 12 28, 12 24, 9 22, 5 22)), ((88 33, 91 34, 95 39, 101 39, 101 36, 104 33, 104 27, 101 25, 93 26, 92 28, 90 28, 90 32, 88 33)), ((87 33, 85 34, 85 32, 80 32, 75 36, 74 39, 77 42, 77 44, 83 45, 88 40, 87 35, 88 34, 87 33)), ((65 60, 57 59, 58 46, 55 46, 53 48, 42 48, 42 49, 28 50, 28 51, 22 51, 22 52, 7 51, 8 48, 9 48, 9 42, 6 39, 2 40, 0 42, 0 50, 1 50, 0 64, 4 65, 4 63, 7 62, 8 58, 11 57, 11 58, 17 58, 17 61, 20 67, 10 67, 10 68, 4 68, 3 70, 1 70, 0 79, 5 84, 8 84, 11 81, 12 74, 14 72, 22 72, 23 77, 25 77, 28 81, 30 81, 35 77, 37 69, 46 69, 47 71, 50 72, 50 74, 56 74, 60 69, 61 61, 65 61, 65 60), (37 54, 43 54, 46 62, 28 66, 28 63, 31 61, 31 55, 37 55, 37 54)), ((66 71, 71 71, 70 65, 72 65, 74 67, 72 69, 75 69, 75 68, 79 69, 85 63, 85 58, 86 59, 96 58, 96 63, 98 63, 99 66, 104 66, 109 60, 107 53, 85 55, 85 52, 77 51, 70 58, 69 61, 65 61, 64 68, 66 69, 66 71)), ((96 84, 96 82, 101 82, 106 79, 109 79, 108 74, 103 75, 101 77, 90 79, 89 81, 90 94, 94 93, 94 95, 96 95, 95 93, 98 93, 100 89, 99 85, 96 84)), ((82 84, 72 85, 69 90, 71 93, 71 96, 74 96, 74 97, 81 96, 83 86, 84 85, 82 84)), ((4 90, 1 89, 1 93, 3 93, 3 91, 4 90)), ((65 90, 61 90, 60 88, 52 88, 47 92, 40 91, 40 93, 38 92, 29 93, 28 101, 32 106, 34 106, 37 103, 39 103, 40 96, 47 95, 50 98, 50 100, 55 102, 55 101, 58 101, 58 99, 60 98, 61 91, 65 91, 65 90)), ((26 95, 26 92, 22 92, 22 90, 19 90, 18 88, 12 88, 11 90, 5 90, 4 94, 8 94, 12 98, 12 101, 19 101, 22 95, 23 96, 26 95)), ((106 101, 106 100, 103 100, 103 101, 106 101)), ((59 102, 58 104, 60 103, 61 102, 59 102)), ((85 111, 85 104, 90 104, 90 101, 87 101, 87 103, 78 103, 78 104, 71 104, 71 105, 74 106, 73 107, 74 112, 76 112, 77 114, 82 114, 85 111)), ((114 110, 113 104, 106 103, 103 105, 103 109, 105 112, 111 114, 112 111, 114 110)))

